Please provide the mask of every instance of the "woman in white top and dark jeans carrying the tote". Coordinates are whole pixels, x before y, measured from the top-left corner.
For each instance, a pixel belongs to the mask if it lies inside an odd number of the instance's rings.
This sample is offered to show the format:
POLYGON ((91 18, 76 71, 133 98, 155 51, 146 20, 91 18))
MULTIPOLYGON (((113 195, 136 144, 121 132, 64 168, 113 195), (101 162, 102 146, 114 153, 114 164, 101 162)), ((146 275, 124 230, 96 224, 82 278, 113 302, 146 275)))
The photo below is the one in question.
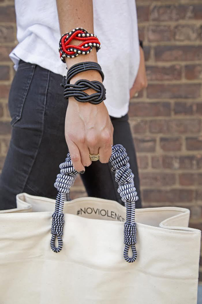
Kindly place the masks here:
MULTIPOLYGON (((147 80, 134 0, 16 0, 15 9, 19 43, 10 58, 17 72, 9 95, 12 138, 0 181, 0 209, 15 208, 20 192, 55 198, 53 184, 67 150, 89 196, 121 203, 108 163, 116 143, 130 157, 140 208, 127 112, 130 97, 146 87, 147 80), (93 47, 89 54, 65 57, 63 63, 58 54, 60 36, 77 27, 97 35, 101 50, 97 53, 93 47), (107 98, 98 105, 74 97, 67 102, 63 97, 60 84, 66 67, 84 61, 98 62, 104 72, 107 98), (92 162, 89 154, 99 154, 99 161, 92 162)), ((78 40, 72 43, 78 45, 78 40)), ((94 70, 75 75, 70 83, 79 79, 102 82, 94 70)))

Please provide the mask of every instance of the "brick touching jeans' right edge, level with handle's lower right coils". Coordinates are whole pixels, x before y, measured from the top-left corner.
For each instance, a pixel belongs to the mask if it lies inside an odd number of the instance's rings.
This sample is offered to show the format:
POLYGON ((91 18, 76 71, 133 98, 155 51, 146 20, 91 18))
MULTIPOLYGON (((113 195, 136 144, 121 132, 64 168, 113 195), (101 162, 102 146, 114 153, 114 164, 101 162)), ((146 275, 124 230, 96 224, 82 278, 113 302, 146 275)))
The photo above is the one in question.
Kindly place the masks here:
POLYGON ((172 186, 175 185, 176 178, 173 173, 161 173, 161 172, 141 172, 140 173, 141 186, 172 186))

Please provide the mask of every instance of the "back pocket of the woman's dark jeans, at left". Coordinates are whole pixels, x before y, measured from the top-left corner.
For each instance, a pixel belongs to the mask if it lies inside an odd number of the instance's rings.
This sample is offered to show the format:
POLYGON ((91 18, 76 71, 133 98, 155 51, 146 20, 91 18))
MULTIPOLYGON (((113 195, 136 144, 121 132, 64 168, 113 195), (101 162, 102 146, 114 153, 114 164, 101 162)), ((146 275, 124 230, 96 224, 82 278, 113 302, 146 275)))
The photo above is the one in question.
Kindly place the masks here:
POLYGON ((12 81, 8 98, 8 109, 11 116, 11 125, 14 126, 21 119, 23 105, 35 71, 35 64, 19 64, 12 81))

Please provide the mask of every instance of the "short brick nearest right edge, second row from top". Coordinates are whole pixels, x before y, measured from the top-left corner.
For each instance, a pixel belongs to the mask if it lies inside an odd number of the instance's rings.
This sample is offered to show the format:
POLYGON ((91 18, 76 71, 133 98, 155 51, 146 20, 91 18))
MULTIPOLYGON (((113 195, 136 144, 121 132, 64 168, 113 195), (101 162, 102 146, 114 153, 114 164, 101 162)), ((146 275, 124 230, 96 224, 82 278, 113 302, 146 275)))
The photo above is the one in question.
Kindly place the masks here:
POLYGON ((199 29, 194 24, 179 24, 174 27, 174 40, 195 41, 198 38, 199 29))

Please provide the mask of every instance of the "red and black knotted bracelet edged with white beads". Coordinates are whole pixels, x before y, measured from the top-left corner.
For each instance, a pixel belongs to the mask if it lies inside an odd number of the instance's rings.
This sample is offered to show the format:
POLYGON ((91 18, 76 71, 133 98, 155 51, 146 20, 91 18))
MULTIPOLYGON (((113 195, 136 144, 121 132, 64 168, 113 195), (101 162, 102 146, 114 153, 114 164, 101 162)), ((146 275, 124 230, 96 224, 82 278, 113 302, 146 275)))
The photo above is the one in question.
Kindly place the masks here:
POLYGON ((88 33, 82 27, 77 27, 70 33, 66 33, 61 36, 59 42, 60 58, 62 62, 65 63, 65 57, 74 58, 80 54, 89 54, 93 47, 96 47, 97 52, 101 48, 98 37, 94 34, 88 33), (79 45, 70 44, 73 39, 81 40, 83 42, 79 45))

